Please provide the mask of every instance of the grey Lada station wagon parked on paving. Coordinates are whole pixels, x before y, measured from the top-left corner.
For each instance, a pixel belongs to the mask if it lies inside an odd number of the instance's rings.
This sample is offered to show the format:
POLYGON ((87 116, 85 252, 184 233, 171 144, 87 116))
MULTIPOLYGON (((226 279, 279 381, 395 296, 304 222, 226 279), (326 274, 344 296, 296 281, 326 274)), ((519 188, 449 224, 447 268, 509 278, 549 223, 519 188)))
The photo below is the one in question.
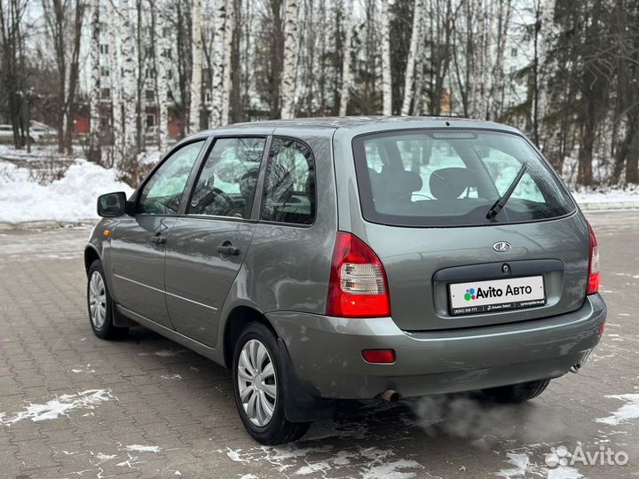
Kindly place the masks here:
POLYGON ((531 141, 495 123, 205 131, 98 212, 94 333, 146 326, 229 368, 263 444, 340 399, 532 399, 604 330, 592 229, 531 141))

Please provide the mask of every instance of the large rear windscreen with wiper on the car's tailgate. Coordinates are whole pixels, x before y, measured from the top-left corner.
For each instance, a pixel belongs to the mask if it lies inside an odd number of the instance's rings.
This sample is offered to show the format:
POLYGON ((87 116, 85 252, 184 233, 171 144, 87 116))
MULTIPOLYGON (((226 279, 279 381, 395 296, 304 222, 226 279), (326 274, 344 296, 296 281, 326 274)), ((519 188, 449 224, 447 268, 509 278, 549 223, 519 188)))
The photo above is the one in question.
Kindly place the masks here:
POLYGON ((575 209, 546 161, 523 138, 485 130, 410 130, 353 140, 362 213, 398 226, 541 221, 575 209), (488 210, 525 174, 494 218, 488 210))

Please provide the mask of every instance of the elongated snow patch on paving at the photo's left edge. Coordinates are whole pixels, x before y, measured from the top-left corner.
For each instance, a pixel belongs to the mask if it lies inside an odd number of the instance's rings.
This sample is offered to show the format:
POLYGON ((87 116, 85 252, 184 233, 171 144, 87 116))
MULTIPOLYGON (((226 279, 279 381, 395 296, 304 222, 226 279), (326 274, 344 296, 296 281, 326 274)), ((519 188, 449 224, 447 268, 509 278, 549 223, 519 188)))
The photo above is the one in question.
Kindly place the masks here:
POLYGON ((51 399, 44 404, 29 403, 25 411, 16 412, 12 416, 6 412, 0 413, 0 424, 11 425, 20 420, 54 420, 59 416, 68 416, 68 413, 75 409, 95 409, 95 407, 110 399, 117 399, 111 396, 111 389, 89 389, 77 394, 65 394, 55 399, 51 399))

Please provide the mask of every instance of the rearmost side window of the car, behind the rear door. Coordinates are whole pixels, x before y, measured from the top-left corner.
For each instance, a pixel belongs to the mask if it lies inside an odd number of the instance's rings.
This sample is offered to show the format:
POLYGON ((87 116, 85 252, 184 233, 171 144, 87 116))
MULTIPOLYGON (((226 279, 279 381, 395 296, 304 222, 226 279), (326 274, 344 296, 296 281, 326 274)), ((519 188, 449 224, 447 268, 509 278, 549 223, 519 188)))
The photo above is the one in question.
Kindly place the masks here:
POLYGON ((315 220, 315 160, 308 145, 292 138, 273 138, 260 219, 290 224, 315 220))

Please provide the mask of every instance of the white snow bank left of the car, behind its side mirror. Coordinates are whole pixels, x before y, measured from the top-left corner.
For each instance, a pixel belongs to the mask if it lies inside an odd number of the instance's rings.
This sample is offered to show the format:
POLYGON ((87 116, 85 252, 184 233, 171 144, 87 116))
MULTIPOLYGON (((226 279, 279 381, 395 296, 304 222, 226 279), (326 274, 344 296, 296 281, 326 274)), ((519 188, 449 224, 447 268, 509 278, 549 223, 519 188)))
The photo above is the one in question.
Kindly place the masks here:
POLYGON ((29 170, 0 163, 0 223, 28 221, 79 222, 95 219, 96 200, 106 192, 133 190, 118 181, 114 169, 89 161, 71 165, 64 177, 51 185, 29 178, 29 170))

